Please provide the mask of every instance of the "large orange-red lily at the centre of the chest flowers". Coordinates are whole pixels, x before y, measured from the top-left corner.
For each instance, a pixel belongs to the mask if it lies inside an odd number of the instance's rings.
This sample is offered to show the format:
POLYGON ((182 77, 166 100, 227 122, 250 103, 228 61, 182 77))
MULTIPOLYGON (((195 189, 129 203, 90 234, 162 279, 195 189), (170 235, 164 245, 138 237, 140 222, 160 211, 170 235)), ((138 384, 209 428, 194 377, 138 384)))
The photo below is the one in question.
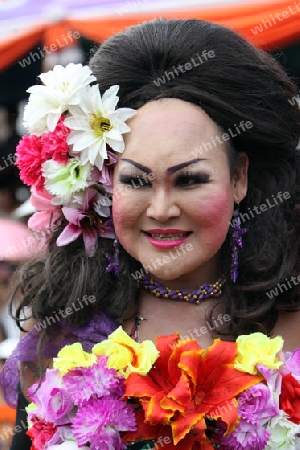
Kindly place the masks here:
MULTIPOLYGON (((169 435, 171 428, 169 448, 191 450, 198 442, 201 449, 213 449, 205 434, 205 419, 220 419, 227 432, 232 431, 238 422, 235 397, 262 377, 234 368, 234 342, 217 339, 206 351, 194 340, 179 341, 175 334, 161 336, 156 342, 160 356, 155 366, 147 376, 130 374, 126 382, 125 396, 137 398, 143 408, 138 428, 148 424, 147 438, 155 434, 157 439, 169 435)), ((130 439, 135 433, 139 430, 131 433, 130 439)))

